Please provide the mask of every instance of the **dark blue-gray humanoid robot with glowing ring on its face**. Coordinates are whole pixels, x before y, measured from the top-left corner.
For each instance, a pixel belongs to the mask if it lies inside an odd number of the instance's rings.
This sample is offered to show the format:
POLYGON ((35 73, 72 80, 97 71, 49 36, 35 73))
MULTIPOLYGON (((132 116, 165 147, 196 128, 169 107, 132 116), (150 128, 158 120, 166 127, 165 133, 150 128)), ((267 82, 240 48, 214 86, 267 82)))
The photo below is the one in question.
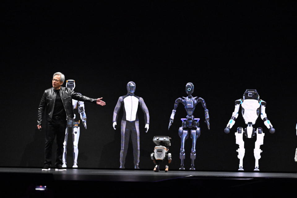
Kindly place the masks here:
POLYGON ((194 85, 192 83, 187 83, 186 93, 188 94, 188 96, 176 99, 174 104, 174 109, 172 110, 170 120, 169 120, 168 130, 171 124, 173 123, 177 106, 179 105, 179 103, 182 103, 185 106, 185 109, 187 111, 187 117, 181 119, 182 126, 179 127, 179 137, 181 138, 181 147, 180 147, 180 153, 179 153, 179 158, 181 159, 181 165, 179 170, 185 170, 183 160, 185 159, 185 150, 184 150, 185 140, 187 140, 187 138, 189 137, 189 132, 187 128, 191 129, 190 136, 192 138, 192 150, 191 150, 192 164, 191 164, 190 170, 195 170, 194 160, 196 158, 196 140, 200 136, 200 127, 198 127, 200 119, 194 118, 193 113, 195 110, 195 106, 199 102, 201 102, 204 108, 204 113, 205 113, 204 122, 207 123, 207 127, 209 129, 209 113, 208 113, 208 109, 206 108, 205 101, 202 98, 192 97, 193 92, 194 92, 194 85))

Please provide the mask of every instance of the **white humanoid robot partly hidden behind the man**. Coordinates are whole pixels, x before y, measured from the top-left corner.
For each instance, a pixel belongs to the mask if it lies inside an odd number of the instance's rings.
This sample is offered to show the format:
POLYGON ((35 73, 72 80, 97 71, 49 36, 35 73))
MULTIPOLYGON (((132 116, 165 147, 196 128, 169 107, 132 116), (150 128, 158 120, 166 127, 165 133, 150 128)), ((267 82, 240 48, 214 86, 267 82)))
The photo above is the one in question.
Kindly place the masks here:
MULTIPOLYGON (((75 88, 75 80, 67 80, 66 81, 66 87, 73 90, 75 88)), ((80 114, 80 119, 84 123, 84 128, 87 129, 87 116, 84 112, 84 102, 77 101, 72 99, 72 106, 73 109, 78 109, 78 112, 80 114)), ((67 167, 66 165, 66 155, 67 155, 67 137, 68 137, 68 130, 69 128, 72 129, 72 141, 73 141, 73 168, 77 168, 77 157, 78 157, 78 140, 80 138, 80 127, 78 126, 80 124, 80 120, 78 122, 74 122, 74 118, 71 120, 67 120, 67 127, 65 132, 65 140, 64 140, 64 152, 63 152, 63 165, 62 167, 67 167)))

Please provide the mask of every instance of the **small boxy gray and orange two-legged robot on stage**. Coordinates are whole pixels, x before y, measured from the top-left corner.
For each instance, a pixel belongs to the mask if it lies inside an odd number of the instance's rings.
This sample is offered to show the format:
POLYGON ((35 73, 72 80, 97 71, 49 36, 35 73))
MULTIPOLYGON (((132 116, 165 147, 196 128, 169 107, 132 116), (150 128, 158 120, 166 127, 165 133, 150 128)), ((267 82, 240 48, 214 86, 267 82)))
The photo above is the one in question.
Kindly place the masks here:
POLYGON ((171 153, 168 153, 170 146, 170 137, 168 136, 154 136, 153 142, 157 145, 155 146, 154 153, 151 153, 151 159, 156 165, 154 168, 155 172, 159 172, 160 163, 166 160, 165 172, 168 171, 168 164, 171 163, 171 153))

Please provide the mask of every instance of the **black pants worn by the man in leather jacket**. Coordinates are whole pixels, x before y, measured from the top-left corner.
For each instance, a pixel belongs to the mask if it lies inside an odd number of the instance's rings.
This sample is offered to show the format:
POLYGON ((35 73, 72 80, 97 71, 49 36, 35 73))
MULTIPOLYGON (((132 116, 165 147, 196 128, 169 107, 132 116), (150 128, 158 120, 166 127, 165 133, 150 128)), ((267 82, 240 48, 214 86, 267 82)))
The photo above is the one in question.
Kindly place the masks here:
POLYGON ((45 131, 45 161, 44 164, 52 164, 52 146, 55 136, 57 136, 57 153, 55 166, 62 165, 63 157, 63 143, 65 139, 65 130, 67 126, 66 119, 53 119, 51 122, 47 122, 45 131))

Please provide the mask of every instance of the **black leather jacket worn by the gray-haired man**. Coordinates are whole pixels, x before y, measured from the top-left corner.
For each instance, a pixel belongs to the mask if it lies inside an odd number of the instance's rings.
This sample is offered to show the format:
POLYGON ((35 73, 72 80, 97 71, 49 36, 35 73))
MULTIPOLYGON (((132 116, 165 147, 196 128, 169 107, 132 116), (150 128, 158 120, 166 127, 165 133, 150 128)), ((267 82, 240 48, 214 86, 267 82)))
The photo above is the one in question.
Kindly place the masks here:
POLYGON ((39 107, 38 107, 38 118, 37 125, 42 124, 42 117, 44 110, 46 108, 46 117, 48 121, 52 121, 53 112, 54 112, 54 103, 56 100, 56 94, 60 94, 62 102, 66 111, 67 119, 74 118, 73 108, 72 108, 72 99, 77 101, 92 102, 96 104, 97 99, 89 98, 81 95, 80 93, 75 93, 70 88, 62 87, 58 92, 54 91, 54 88, 46 89, 41 98, 39 107))

